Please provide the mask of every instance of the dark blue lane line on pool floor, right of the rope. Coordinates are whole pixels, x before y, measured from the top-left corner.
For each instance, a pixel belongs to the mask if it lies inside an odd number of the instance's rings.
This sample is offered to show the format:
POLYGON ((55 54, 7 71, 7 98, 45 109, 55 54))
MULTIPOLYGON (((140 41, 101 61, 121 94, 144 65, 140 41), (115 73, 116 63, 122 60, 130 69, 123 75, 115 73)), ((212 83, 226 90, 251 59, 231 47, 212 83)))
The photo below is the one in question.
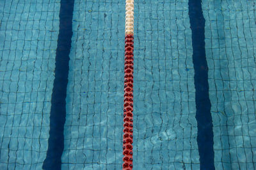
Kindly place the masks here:
POLYGON ((192 31, 193 64, 195 69, 197 143, 200 169, 215 169, 211 102, 209 99, 208 66, 205 56, 205 19, 201 0, 189 0, 189 20, 192 31))

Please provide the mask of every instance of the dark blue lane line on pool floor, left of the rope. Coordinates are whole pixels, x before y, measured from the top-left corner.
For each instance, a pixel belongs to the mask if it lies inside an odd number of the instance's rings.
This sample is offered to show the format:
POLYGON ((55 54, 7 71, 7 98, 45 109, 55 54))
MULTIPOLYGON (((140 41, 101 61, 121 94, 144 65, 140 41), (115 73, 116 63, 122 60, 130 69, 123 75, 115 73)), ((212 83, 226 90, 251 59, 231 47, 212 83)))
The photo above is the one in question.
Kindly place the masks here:
POLYGON ((43 169, 61 169, 61 155, 64 148, 64 124, 66 120, 66 96, 68 83, 68 62, 72 38, 72 17, 74 0, 61 0, 60 32, 56 50, 55 79, 52 89, 50 136, 43 169))

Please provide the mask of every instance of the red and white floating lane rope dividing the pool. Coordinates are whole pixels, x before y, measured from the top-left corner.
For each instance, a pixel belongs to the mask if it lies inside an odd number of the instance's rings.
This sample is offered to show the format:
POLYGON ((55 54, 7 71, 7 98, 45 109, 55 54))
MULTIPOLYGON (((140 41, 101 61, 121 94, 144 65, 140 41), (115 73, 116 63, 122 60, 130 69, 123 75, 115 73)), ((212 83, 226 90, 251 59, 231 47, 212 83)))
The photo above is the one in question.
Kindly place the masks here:
POLYGON ((132 169, 133 142, 133 23, 134 1, 125 2, 123 169, 132 169))

